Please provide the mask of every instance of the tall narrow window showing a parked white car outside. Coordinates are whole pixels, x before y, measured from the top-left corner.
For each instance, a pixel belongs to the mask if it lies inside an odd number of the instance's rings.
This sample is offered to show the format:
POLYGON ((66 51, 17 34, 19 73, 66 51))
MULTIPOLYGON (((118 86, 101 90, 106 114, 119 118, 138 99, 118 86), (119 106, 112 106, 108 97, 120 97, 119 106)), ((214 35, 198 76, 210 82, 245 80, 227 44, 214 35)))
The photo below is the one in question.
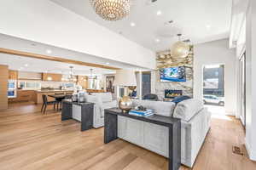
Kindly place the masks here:
POLYGON ((225 115, 224 65, 203 67, 203 101, 214 115, 225 115))

